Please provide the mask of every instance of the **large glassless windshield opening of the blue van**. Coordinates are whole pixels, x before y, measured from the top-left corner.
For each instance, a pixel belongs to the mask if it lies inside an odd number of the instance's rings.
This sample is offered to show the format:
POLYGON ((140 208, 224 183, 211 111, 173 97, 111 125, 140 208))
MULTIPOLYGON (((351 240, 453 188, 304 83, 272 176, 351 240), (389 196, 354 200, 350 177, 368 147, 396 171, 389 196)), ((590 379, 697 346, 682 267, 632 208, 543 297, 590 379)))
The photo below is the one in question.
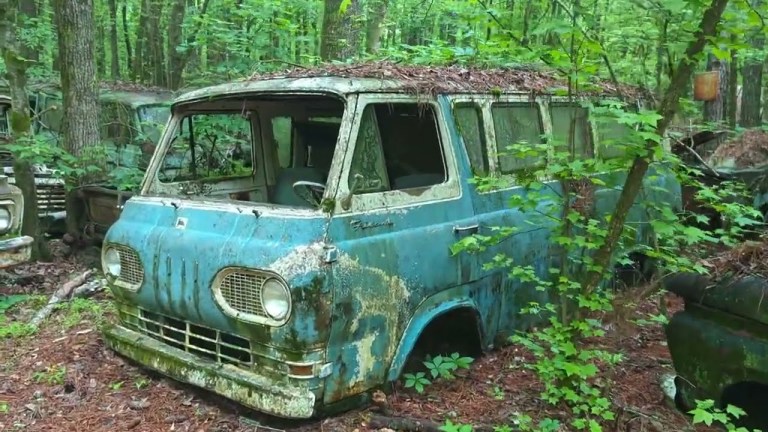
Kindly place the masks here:
POLYGON ((181 105, 149 192, 316 207, 343 115, 343 100, 330 96, 261 94, 181 105))

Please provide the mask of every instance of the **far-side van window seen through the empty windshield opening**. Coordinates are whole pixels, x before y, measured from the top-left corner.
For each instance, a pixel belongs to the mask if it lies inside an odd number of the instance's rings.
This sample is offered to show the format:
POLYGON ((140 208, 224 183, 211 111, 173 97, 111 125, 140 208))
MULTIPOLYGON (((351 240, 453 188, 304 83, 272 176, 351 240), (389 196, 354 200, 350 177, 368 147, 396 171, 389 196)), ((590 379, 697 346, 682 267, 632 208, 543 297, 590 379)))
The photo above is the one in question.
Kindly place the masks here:
POLYGON ((161 182, 243 177, 253 173, 248 155, 253 147, 250 118, 240 112, 191 114, 181 119, 165 154, 161 182))

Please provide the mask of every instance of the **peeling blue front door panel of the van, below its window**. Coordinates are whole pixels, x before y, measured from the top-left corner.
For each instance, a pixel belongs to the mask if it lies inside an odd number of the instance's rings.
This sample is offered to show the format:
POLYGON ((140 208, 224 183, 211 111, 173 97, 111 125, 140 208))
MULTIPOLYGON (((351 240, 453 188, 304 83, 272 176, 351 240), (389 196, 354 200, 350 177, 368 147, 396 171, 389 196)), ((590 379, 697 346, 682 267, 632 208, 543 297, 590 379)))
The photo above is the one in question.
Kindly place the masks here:
MULTIPOLYGON (((457 151, 455 139, 449 145, 457 151)), ((449 175, 466 177, 466 166, 459 165, 459 172, 449 175)), ((475 223, 466 193, 333 217, 329 237, 339 249, 339 260, 333 270, 334 311, 327 360, 334 369, 333 379, 326 383, 326 402, 380 385, 395 356, 407 355, 396 351, 419 305, 468 282, 477 262, 466 254, 452 256, 450 247, 465 235, 454 227, 475 223)), ((467 298, 473 295, 466 290, 454 293, 467 298)), ((479 307, 489 314, 494 304, 479 307)), ((425 326, 428 322, 416 320, 413 324, 425 326)), ((408 337, 418 337, 421 330, 410 329, 408 337)), ((408 346, 413 342, 409 340, 408 346)))

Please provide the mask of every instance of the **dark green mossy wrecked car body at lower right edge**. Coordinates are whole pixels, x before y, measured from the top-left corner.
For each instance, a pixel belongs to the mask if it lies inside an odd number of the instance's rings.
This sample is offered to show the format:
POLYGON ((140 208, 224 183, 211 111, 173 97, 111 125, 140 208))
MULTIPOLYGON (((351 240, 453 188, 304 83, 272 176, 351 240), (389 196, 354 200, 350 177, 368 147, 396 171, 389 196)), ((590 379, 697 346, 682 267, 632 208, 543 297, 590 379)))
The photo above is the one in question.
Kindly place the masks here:
POLYGON ((729 275, 713 280, 682 273, 669 277, 665 287, 685 301, 665 328, 678 406, 689 411, 696 400, 706 399, 723 408, 731 404, 747 413, 738 426, 765 430, 768 279, 729 275))

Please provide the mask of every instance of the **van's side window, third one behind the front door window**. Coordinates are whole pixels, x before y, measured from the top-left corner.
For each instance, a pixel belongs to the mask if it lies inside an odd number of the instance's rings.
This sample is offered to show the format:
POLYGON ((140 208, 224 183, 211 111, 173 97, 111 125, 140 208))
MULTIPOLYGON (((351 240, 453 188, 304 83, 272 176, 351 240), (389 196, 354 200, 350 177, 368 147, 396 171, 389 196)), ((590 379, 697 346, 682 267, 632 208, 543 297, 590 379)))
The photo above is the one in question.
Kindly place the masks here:
POLYGON ((573 132, 571 154, 580 158, 593 157, 587 109, 577 104, 554 102, 550 104, 549 112, 552 118, 552 138, 557 143, 557 150, 565 151, 568 148, 566 146, 571 144, 569 138, 573 132))

